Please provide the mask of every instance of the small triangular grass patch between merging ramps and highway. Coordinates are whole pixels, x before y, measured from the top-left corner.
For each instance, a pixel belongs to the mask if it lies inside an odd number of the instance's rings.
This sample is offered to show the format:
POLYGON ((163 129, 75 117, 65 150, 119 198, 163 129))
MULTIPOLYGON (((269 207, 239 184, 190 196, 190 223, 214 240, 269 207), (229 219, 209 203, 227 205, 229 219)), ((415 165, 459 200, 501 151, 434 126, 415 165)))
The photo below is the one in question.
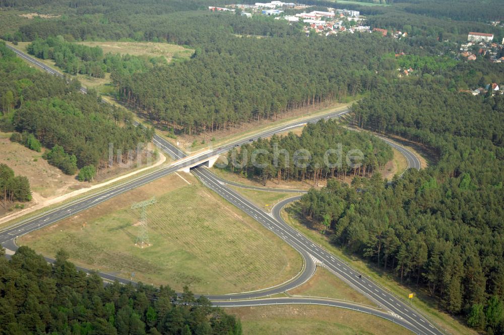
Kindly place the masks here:
POLYGON ((290 290, 288 294, 291 296, 333 298, 376 307, 375 302, 351 288, 329 270, 320 266, 317 267, 315 274, 313 274, 308 282, 290 290))

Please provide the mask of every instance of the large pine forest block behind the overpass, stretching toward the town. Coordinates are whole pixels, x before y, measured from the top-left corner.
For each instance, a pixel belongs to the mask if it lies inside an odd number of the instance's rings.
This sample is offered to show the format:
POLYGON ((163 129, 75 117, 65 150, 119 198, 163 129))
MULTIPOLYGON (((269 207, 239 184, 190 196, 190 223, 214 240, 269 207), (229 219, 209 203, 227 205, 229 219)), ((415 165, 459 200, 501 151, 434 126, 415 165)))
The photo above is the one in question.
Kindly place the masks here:
POLYGON ((190 61, 110 78, 125 104, 159 125, 192 135, 369 92, 386 71, 379 55, 402 47, 371 34, 228 36, 197 46, 190 61))

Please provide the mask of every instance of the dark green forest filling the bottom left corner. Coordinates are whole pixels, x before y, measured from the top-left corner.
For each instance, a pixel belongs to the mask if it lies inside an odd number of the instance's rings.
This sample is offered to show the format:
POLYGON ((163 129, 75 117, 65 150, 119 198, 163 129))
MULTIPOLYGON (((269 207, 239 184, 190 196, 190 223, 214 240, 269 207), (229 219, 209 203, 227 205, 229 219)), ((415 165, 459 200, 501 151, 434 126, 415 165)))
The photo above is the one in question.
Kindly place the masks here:
POLYGON ((0 334, 241 334, 239 319, 184 289, 104 285, 59 251, 54 264, 28 247, 0 248, 0 334))

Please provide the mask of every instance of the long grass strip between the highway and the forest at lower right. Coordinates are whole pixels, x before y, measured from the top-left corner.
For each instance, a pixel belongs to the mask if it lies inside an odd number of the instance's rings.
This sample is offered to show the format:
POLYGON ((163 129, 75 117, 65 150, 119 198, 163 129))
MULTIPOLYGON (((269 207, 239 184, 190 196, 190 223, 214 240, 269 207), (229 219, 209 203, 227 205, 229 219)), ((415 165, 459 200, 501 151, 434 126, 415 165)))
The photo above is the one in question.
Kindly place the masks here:
POLYGON ((298 205, 296 203, 293 203, 282 211, 282 217, 289 225, 314 241, 314 243, 322 245, 329 252, 340 257, 357 271, 371 278, 374 282, 389 290, 400 299, 403 299, 405 302, 407 301, 408 294, 414 292, 417 299, 415 299, 415 301, 413 302, 413 306, 420 312, 422 312, 430 321, 433 321, 434 324, 447 329, 448 333, 477 333, 473 329, 465 326, 465 324, 461 320, 458 320, 445 312, 439 311, 436 308, 436 303, 432 301, 432 299, 430 299, 428 295, 425 294, 425 292, 399 284, 395 280, 394 276, 390 274, 390 272, 384 272, 381 269, 377 269, 376 267, 372 266, 372 264, 367 263, 356 256, 349 255, 343 252, 341 249, 330 244, 327 236, 323 236, 319 232, 308 229, 305 225, 303 225, 297 218, 298 212, 298 205))

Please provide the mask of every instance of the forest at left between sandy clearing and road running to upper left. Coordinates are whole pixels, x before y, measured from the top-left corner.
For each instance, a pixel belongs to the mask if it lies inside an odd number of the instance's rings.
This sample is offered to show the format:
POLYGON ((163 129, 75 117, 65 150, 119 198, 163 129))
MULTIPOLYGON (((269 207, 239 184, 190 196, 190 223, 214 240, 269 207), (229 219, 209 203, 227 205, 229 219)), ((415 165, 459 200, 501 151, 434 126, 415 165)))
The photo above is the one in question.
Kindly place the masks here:
POLYGON ((116 166, 147 154, 145 144, 153 130, 135 127, 130 112, 102 103, 91 90, 81 94, 78 81, 31 69, 3 43, 0 54, 0 99, 8 92, 13 95, 13 109, 1 125, 4 131, 22 133, 13 135, 15 140, 35 145, 34 136, 51 149, 45 155, 49 161, 68 174, 88 165, 116 166), (115 150, 113 157, 109 143, 115 150))

